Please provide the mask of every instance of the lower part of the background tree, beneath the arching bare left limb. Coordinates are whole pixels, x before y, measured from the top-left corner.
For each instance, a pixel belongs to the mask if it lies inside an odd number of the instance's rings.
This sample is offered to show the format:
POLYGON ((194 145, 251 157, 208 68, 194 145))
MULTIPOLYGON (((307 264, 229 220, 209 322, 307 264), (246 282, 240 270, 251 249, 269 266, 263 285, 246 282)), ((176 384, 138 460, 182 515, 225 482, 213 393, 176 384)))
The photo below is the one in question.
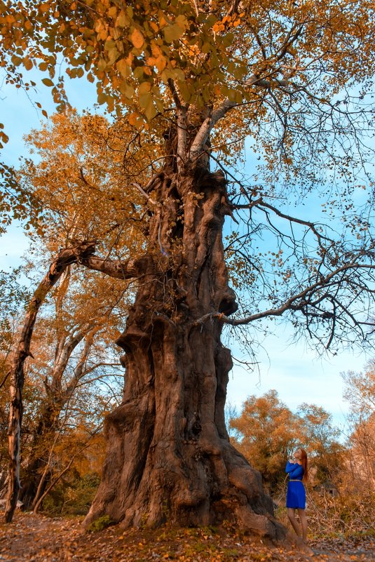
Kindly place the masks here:
MULTIPOLYGON (((126 309, 123 288, 118 283, 116 286, 114 279, 86 276, 70 281, 65 277, 58 289, 50 303, 54 302, 55 310, 47 309, 36 324, 32 344, 36 360, 27 366, 27 376, 39 380, 41 389, 35 415, 28 417, 28 447, 22 462, 20 499, 27 507, 36 504, 37 496, 49 484, 55 462, 52 444, 60 448, 66 427, 76 426, 77 412, 82 411, 79 418, 83 420, 85 399, 86 425, 91 427, 87 433, 95 436, 97 425, 102 423, 102 410, 108 411, 109 403, 117 404, 116 398, 121 395, 121 363, 110 338, 116 339, 121 326, 118 316, 126 309), (75 285, 74 289, 69 285, 75 285), (88 400, 87 385, 95 400, 88 400), (97 422, 93 426, 90 420, 94 419, 97 422)), ((80 425, 85 424, 81 421, 80 425)))

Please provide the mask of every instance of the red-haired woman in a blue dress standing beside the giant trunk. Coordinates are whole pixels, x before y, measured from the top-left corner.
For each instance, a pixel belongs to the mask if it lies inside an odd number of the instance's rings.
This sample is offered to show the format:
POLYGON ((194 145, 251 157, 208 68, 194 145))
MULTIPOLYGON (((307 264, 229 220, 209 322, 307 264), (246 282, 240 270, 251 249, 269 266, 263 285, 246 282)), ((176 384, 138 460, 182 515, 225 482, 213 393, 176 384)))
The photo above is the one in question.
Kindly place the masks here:
POLYGON ((287 510, 289 521, 296 532, 301 536, 299 525, 296 522, 295 511, 298 509, 299 520, 302 527, 302 540, 307 540, 307 519, 305 515, 306 492, 303 481, 308 479, 307 453, 304 449, 297 449, 294 453, 294 459, 289 459, 285 472, 289 474, 289 482, 287 488, 287 510))

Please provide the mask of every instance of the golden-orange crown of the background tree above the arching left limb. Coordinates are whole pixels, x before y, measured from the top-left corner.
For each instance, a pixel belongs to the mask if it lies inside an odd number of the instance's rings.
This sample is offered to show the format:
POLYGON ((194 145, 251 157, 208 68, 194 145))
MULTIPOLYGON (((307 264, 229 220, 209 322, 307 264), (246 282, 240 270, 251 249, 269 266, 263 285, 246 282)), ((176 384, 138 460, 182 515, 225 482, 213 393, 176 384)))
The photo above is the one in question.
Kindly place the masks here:
MULTIPOLYGON (((76 239, 100 240, 117 255, 136 253, 144 241, 143 196, 158 143, 124 120, 115 123, 75 110, 54 114, 25 138, 29 152, 17 172, 18 185, 43 208, 36 231, 50 251, 76 239), (121 250, 120 250, 121 248, 121 250)), ((34 234, 34 229, 32 229, 34 234)))

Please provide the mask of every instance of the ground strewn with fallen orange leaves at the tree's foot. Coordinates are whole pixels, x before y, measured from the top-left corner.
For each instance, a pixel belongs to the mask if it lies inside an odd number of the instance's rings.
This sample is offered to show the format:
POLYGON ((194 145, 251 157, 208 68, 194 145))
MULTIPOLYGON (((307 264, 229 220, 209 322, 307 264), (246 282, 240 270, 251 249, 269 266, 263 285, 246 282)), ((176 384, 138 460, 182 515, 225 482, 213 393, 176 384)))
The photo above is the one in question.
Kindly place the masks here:
POLYGON ((0 525, 0 562, 272 562, 375 560, 375 537, 360 535, 312 540, 311 552, 290 544, 267 544, 230 526, 163 527, 123 531, 109 526, 83 532, 82 518, 16 514, 0 525))

